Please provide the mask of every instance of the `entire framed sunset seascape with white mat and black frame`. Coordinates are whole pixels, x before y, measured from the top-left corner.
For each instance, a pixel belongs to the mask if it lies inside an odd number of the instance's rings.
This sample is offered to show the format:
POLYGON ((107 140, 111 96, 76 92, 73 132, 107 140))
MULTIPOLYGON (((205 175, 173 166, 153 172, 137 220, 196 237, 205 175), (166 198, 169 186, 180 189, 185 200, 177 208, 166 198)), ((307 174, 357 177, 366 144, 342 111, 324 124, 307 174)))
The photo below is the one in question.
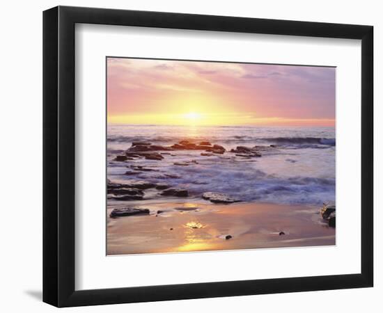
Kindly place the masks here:
POLYGON ((43 66, 46 303, 373 287, 373 26, 58 6, 43 66))

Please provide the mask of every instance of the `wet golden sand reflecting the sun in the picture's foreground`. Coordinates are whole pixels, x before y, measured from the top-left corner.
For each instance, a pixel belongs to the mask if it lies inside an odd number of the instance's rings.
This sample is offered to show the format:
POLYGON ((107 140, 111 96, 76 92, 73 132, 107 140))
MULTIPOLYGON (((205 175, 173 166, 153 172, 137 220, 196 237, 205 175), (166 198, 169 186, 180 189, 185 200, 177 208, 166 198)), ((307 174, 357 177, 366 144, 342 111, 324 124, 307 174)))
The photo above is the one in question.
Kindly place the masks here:
POLYGON ((109 204, 107 255, 335 245, 335 229, 323 223, 320 207, 188 201, 131 202, 150 215, 118 218, 109 214, 124 205, 109 204))

